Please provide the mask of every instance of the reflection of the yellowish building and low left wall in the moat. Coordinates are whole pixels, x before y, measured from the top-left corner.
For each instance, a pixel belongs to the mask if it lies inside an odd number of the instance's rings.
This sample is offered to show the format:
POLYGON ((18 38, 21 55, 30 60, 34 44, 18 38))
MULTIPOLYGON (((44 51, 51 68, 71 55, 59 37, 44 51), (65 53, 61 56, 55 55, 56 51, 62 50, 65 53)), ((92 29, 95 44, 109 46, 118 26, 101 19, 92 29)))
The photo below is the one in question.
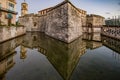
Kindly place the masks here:
POLYGON ((5 74, 14 66, 15 48, 22 43, 23 37, 0 44, 0 80, 6 80, 5 74))

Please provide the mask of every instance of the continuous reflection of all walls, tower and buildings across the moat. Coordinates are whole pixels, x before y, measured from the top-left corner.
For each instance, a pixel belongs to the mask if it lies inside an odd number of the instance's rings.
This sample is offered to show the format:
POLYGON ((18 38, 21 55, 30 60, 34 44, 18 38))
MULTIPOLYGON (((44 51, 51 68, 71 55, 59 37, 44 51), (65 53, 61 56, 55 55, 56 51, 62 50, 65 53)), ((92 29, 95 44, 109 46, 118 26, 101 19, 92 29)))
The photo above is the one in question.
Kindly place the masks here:
POLYGON ((99 48, 102 43, 120 53, 119 41, 101 37, 100 34, 84 34, 83 38, 66 44, 42 33, 27 33, 23 37, 0 44, 0 80, 5 80, 5 72, 14 66, 13 56, 18 46, 20 46, 20 59, 27 58, 28 48, 36 49, 47 57, 65 80, 68 80, 86 49, 99 48))

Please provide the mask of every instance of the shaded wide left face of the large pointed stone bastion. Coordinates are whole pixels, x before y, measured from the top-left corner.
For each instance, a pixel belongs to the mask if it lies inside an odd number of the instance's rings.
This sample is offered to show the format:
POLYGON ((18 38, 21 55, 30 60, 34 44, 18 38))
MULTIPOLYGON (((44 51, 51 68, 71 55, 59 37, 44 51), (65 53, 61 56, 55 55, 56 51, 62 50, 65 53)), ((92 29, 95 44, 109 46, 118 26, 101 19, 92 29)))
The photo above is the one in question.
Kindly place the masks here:
POLYGON ((68 41, 68 4, 62 4, 55 7, 47 13, 45 34, 68 41))

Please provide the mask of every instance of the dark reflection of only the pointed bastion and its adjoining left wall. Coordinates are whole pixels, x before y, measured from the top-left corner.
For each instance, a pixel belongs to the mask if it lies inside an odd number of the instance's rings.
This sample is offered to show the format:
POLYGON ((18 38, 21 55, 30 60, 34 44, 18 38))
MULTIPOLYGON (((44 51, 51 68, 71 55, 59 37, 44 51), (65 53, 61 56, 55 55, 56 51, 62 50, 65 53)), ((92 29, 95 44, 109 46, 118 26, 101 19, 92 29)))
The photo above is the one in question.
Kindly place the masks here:
POLYGON ((86 44, 82 38, 66 44, 41 33, 28 33, 22 46, 35 48, 44 54, 65 80, 69 79, 79 58, 86 51, 86 44))

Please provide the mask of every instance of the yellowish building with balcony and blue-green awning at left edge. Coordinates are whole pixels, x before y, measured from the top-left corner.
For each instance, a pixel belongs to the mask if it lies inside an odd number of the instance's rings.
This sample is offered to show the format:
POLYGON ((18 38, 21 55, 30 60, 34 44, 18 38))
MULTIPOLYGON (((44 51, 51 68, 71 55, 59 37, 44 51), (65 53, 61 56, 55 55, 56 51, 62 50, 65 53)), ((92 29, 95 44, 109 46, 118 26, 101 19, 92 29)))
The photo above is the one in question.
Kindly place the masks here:
POLYGON ((16 23, 16 0, 0 0, 0 25, 16 23))

